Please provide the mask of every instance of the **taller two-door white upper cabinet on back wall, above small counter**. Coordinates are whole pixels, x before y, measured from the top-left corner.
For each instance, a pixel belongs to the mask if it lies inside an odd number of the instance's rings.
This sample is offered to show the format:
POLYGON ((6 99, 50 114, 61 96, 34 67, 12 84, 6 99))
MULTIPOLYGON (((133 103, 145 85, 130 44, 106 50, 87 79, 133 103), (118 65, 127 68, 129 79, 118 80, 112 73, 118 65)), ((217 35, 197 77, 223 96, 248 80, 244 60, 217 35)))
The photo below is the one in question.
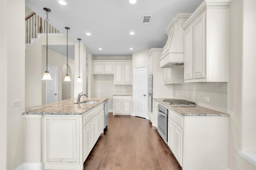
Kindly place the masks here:
POLYGON ((132 84, 132 62, 115 63, 114 85, 132 84))

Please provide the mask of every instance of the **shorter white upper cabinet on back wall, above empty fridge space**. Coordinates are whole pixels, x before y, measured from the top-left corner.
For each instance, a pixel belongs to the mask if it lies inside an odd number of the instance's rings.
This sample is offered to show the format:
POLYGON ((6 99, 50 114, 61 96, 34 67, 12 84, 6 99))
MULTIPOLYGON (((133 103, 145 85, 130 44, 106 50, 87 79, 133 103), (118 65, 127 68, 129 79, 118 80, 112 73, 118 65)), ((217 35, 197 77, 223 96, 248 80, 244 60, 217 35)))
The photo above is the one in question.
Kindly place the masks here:
POLYGON ((94 60, 93 64, 93 74, 114 74, 113 63, 102 60, 94 60))

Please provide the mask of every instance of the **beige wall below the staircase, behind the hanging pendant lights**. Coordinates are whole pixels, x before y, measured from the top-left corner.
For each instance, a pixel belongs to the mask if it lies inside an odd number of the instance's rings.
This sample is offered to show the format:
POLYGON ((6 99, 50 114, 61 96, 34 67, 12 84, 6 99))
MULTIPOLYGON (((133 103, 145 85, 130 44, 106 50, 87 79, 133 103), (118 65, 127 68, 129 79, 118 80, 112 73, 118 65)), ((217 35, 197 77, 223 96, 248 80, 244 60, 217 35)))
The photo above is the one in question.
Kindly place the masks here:
MULTIPOLYGON (((66 45, 66 36, 48 35, 48 45, 66 45), (55 43, 55 44, 54 44, 55 43)), ((69 45, 74 43, 68 40, 69 45)), ((32 46, 26 46, 25 61, 25 107, 42 105, 46 103, 46 81, 42 76, 46 70, 46 34, 41 34, 39 41, 34 41, 32 46), (36 94, 36 95, 35 95, 36 94)), ((48 48, 48 64, 58 67, 58 101, 62 100, 62 67, 66 64, 66 56, 48 48)), ((74 96, 74 59, 68 58, 71 85, 71 97, 74 96)))

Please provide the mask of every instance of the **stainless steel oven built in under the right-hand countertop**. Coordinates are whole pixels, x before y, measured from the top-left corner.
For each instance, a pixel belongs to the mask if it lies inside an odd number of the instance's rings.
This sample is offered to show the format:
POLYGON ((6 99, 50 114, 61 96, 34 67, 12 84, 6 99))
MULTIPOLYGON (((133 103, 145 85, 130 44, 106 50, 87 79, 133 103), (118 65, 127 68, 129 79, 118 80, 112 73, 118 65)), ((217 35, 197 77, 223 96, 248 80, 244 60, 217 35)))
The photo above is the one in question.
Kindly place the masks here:
POLYGON ((168 141, 168 109, 158 105, 158 128, 157 131, 159 132, 160 136, 164 139, 167 143, 168 141))

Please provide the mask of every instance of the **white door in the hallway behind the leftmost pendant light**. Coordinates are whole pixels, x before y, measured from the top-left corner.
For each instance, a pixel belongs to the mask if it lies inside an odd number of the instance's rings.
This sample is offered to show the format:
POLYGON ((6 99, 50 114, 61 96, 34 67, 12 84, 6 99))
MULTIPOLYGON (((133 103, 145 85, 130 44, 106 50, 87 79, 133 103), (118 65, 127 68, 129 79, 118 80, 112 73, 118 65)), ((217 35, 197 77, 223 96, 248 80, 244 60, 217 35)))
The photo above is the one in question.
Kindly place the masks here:
POLYGON ((52 80, 46 81, 46 103, 58 101, 58 67, 48 65, 48 71, 52 80))

